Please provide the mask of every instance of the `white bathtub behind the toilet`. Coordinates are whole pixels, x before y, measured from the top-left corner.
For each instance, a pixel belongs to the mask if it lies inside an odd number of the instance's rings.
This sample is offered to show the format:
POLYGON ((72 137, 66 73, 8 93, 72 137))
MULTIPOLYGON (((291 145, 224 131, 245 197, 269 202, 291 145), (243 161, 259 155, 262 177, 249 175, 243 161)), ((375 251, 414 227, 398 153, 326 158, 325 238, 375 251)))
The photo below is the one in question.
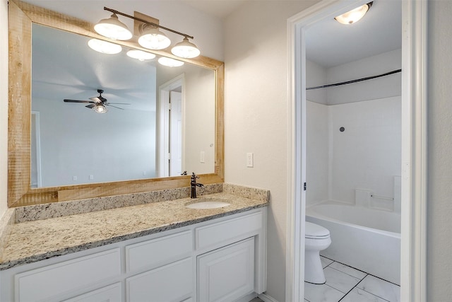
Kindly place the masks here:
POLYGON ((307 207, 306 221, 330 231, 321 255, 400 285, 400 214, 322 202, 307 207))

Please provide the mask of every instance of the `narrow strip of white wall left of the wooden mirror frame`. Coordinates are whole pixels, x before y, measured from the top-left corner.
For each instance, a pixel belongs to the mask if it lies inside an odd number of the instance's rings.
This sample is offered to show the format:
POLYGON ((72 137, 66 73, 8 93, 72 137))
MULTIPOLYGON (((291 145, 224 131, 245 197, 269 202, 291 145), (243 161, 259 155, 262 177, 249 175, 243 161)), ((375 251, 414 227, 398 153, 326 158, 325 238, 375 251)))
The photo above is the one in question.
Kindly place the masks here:
POLYGON ((8 1, 0 1, 0 218, 8 204, 8 1))

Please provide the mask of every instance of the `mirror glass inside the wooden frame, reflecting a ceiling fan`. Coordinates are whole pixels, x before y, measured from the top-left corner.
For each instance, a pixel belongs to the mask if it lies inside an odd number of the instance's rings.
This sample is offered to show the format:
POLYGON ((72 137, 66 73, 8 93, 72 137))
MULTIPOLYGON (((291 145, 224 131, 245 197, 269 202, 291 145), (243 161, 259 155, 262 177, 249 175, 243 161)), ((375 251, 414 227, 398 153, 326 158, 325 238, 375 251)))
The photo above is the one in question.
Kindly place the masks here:
POLYGON ((31 186, 213 173, 215 72, 139 61, 126 47, 102 54, 89 40, 32 25, 31 186), (97 90, 105 114, 92 110, 97 90))

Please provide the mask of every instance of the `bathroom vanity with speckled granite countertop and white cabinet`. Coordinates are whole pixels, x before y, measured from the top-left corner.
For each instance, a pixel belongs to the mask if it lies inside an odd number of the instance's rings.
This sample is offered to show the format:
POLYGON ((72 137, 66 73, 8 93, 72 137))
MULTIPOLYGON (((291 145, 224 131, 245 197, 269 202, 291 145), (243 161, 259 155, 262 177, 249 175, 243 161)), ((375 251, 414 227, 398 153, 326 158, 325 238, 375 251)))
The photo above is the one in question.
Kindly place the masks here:
POLYGON ((230 205, 184 198, 13 224, 0 300, 249 301, 266 286, 268 199, 205 197, 230 205))

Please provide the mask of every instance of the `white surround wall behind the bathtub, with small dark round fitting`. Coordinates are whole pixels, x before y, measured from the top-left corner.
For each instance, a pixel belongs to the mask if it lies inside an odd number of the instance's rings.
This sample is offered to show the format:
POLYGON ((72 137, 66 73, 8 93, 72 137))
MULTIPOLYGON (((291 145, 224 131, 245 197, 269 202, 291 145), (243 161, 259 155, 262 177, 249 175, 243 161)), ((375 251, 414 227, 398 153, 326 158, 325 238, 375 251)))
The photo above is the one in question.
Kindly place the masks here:
MULTIPOLYGON (((400 176, 402 166, 400 96, 331 105, 328 109, 332 156, 330 198, 354 203, 355 189, 394 197, 393 177, 400 176), (345 131, 340 132, 340 127, 345 131)), ((373 201, 381 207, 384 205, 382 200, 373 201)))

